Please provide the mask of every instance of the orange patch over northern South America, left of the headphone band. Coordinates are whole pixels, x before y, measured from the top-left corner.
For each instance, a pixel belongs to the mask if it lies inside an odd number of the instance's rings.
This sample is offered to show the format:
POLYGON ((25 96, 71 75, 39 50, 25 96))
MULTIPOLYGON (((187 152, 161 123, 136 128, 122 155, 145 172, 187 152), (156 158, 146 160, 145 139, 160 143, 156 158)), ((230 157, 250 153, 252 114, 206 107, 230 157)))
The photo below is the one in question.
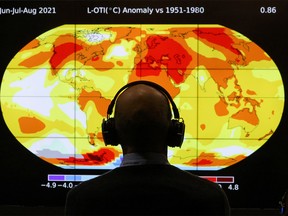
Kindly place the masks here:
POLYGON ((103 98, 99 91, 87 92, 85 89, 82 89, 78 97, 78 104, 82 111, 85 109, 89 101, 92 101, 95 104, 100 115, 106 115, 107 107, 109 106, 111 100, 103 98))

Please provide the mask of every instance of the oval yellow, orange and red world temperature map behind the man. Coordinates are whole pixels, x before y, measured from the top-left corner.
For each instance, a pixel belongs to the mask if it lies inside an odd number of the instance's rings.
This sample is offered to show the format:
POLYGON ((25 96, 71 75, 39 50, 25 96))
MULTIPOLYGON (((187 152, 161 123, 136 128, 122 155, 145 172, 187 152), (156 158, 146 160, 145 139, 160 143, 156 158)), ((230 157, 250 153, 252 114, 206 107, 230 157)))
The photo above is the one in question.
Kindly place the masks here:
POLYGON ((120 146, 105 146, 101 123, 118 89, 156 82, 186 124, 170 163, 219 170, 273 136, 284 107, 271 57, 221 25, 63 25, 24 46, 1 83, 5 123, 19 143, 63 168, 119 166, 120 146))

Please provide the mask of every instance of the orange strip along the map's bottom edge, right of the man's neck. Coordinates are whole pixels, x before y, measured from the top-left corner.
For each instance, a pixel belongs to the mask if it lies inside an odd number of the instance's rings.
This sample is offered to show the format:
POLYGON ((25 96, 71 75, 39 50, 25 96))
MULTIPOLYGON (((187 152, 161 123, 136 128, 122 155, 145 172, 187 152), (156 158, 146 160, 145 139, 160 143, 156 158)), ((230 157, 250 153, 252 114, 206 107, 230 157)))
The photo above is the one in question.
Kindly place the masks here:
POLYGON ((189 166, 230 166, 232 164, 235 164, 243 159, 245 159, 245 155, 238 155, 237 157, 232 158, 217 158, 214 153, 204 153, 202 152, 198 158, 195 158, 193 160, 190 160, 189 162, 186 162, 186 165, 189 166))

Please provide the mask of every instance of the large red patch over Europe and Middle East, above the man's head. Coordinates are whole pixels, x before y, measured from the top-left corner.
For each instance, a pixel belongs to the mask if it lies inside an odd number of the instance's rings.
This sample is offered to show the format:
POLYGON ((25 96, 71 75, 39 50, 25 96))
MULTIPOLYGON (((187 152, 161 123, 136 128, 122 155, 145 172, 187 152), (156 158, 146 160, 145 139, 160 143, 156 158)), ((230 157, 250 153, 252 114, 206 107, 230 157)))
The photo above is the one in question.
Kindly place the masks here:
POLYGON ((136 75, 158 76, 164 69, 175 83, 183 82, 187 66, 192 61, 187 50, 175 40, 159 35, 149 37, 146 44, 148 53, 136 65, 136 75))

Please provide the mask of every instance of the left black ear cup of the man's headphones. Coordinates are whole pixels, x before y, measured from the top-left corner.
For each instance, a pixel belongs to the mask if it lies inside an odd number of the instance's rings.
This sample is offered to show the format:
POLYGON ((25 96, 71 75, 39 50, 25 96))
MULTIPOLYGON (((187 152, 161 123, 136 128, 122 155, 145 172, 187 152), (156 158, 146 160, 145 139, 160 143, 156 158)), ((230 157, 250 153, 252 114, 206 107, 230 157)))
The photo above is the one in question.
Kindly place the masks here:
POLYGON ((117 146, 119 144, 116 129, 115 129, 114 118, 109 118, 107 120, 103 119, 102 136, 103 136, 105 145, 117 146))

